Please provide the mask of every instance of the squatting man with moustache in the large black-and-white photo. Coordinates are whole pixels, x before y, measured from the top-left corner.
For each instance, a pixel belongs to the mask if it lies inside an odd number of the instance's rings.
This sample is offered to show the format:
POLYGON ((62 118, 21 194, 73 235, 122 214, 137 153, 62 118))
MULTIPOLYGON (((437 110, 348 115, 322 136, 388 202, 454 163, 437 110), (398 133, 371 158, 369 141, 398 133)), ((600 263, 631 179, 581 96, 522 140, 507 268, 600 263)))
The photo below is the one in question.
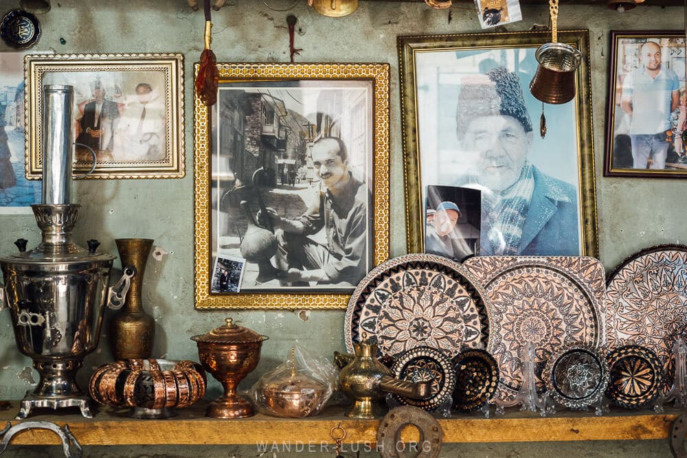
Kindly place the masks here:
POLYGON ((267 208, 278 244, 278 278, 291 286, 308 286, 309 282, 355 286, 370 262, 368 187, 349 170, 348 151, 341 139, 319 139, 311 156, 320 181, 311 207, 293 219, 267 208), (320 231, 326 238, 323 242, 311 237, 320 231))

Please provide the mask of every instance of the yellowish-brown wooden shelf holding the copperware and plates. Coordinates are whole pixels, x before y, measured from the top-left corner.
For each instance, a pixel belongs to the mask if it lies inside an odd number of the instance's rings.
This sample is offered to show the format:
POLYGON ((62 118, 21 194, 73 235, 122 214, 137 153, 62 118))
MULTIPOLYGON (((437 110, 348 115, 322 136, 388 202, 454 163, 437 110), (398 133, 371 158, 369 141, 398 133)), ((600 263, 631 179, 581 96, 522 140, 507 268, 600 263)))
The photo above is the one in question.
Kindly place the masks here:
MULTIPOLYGON (((19 402, 12 402, 8 411, 0 412, 0 422, 19 423, 14 420, 19 402)), ((184 444, 221 445, 302 444, 331 442, 330 430, 339 423, 346 429, 347 443, 376 442, 379 420, 353 420, 343 415, 341 407, 326 409, 317 417, 306 419, 275 418, 258 414, 242 420, 217 420, 205 417, 207 402, 190 409, 181 409, 177 417, 166 420, 135 420, 127 411, 101 408, 93 418, 78 413, 37 409, 24 421, 69 424, 74 437, 83 446, 184 444)), ((509 409, 506 415, 484 418, 454 414, 450 419, 439 419, 444 431, 444 442, 545 442, 585 440, 666 439, 673 420, 682 413, 666 409, 665 413, 651 411, 612 411, 596 417, 592 412, 561 411, 542 418, 536 413, 521 413, 509 409)), ((1 428, 1 426, 0 426, 1 428)), ((406 437, 405 440, 416 439, 406 437)), ((50 431, 32 430, 19 433, 12 444, 60 444, 50 431)))

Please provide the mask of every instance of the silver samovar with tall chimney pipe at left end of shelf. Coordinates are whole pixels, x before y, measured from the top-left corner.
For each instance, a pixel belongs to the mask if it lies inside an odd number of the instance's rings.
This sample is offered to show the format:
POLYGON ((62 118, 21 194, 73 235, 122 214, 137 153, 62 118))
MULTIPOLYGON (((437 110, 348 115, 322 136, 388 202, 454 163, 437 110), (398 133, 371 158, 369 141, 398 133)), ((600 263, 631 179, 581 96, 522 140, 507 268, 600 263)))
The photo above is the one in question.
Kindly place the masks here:
POLYGON ((19 239, 19 253, 0 258, 0 308, 10 308, 16 345, 41 376, 21 401, 17 420, 34 407, 79 407, 92 416, 76 371, 98 346, 105 304, 120 308, 135 274, 126 267, 120 281, 108 286, 115 257, 98 253, 96 240, 88 241, 88 249, 71 241, 81 207, 71 203, 73 100, 71 86, 43 89, 43 204, 31 206, 43 240, 26 251, 27 240, 19 239))

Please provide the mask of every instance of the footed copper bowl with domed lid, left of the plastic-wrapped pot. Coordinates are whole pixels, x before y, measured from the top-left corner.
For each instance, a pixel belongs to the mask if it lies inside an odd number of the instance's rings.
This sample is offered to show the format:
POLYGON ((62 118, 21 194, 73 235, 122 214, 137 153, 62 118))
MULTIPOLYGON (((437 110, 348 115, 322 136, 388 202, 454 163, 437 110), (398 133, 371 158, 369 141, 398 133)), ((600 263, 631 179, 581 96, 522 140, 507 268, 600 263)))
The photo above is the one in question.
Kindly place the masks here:
POLYGON ((251 402, 236 394, 238 384, 258 365, 262 341, 257 332, 227 323, 207 334, 192 336, 198 345, 203 368, 224 387, 224 394, 212 401, 205 415, 213 418, 244 418, 254 415, 251 402))

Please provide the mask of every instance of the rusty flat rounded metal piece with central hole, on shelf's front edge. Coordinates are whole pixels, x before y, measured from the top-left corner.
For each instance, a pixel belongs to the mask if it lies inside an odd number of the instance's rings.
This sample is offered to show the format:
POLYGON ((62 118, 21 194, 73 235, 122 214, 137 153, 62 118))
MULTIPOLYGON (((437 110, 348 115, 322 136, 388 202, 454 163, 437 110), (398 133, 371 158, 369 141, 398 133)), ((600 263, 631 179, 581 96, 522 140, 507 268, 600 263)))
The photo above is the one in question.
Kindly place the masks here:
POLYGON ((377 447, 382 458, 436 458, 441 452, 443 431, 429 413, 418 407, 402 406, 391 409, 377 430, 377 447), (420 431, 416 443, 402 442, 401 431, 413 425, 420 431))

